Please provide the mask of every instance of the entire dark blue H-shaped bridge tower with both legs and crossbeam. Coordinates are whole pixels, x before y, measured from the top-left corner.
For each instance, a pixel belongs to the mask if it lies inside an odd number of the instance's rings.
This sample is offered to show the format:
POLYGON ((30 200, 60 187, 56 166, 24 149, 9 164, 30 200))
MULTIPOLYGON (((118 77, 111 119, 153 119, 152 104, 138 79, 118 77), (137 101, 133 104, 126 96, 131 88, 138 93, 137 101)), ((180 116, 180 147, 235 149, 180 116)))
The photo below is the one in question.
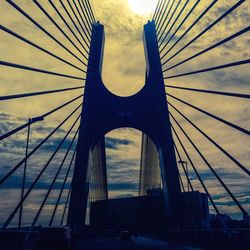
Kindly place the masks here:
POLYGON ((68 225, 74 231, 82 230, 85 225, 91 151, 107 132, 121 127, 138 129, 156 144, 166 214, 169 218, 174 218, 178 213, 181 189, 154 21, 144 26, 146 83, 133 96, 118 97, 103 84, 101 74, 104 40, 103 25, 95 23, 68 213, 68 225))

